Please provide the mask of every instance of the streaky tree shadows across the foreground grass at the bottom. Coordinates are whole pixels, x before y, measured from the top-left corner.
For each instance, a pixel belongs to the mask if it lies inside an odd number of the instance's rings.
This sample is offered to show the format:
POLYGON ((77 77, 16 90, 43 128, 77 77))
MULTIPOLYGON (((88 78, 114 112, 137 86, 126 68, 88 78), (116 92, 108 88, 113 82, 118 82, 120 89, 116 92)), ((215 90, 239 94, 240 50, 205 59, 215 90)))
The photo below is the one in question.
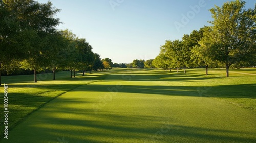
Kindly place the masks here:
POLYGON ((40 112, 41 118, 26 127, 30 131, 22 132, 25 128, 19 127, 16 130, 16 134, 17 132, 19 134, 15 136, 17 139, 14 140, 19 140, 19 137, 22 137, 23 141, 54 142, 57 141, 58 137, 64 137, 70 142, 125 142, 127 140, 129 140, 128 142, 135 140, 139 142, 256 141, 255 135, 251 132, 176 125, 176 121, 172 120, 172 117, 131 116, 114 111, 99 112, 95 115, 92 109, 84 108, 78 111, 75 107, 66 107, 65 105, 69 103, 79 104, 79 99, 63 100, 60 102, 62 106, 44 108, 40 112), (57 114, 70 115, 58 116, 57 114))

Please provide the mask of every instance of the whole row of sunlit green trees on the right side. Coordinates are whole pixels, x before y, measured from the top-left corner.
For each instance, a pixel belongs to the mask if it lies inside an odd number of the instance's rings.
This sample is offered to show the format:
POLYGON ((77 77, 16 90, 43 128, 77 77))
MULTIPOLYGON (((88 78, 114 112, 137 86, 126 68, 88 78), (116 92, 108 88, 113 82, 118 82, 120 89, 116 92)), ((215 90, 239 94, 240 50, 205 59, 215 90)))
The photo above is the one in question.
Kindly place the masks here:
POLYGON ((152 61, 156 68, 251 67, 256 65, 256 4, 244 9, 244 1, 231 1, 210 9, 210 26, 184 34, 181 40, 166 40, 159 55, 152 61))

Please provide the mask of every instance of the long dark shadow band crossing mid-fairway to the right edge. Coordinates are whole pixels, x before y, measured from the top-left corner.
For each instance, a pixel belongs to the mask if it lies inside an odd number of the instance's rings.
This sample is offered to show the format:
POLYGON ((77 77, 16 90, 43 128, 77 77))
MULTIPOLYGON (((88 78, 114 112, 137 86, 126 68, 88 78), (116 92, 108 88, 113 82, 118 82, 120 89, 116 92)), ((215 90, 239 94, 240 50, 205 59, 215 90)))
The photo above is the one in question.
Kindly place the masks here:
POLYGON ((253 98, 255 99, 256 84, 241 85, 220 85, 207 87, 205 90, 201 86, 161 86, 161 85, 121 85, 119 90, 108 90, 115 88, 115 85, 87 85, 84 88, 77 88, 76 91, 90 92, 121 92, 121 93, 142 93, 142 94, 159 94, 164 96, 194 96, 194 97, 227 97, 227 98, 253 98), (203 94, 200 94, 203 92, 203 94), (246 94, 245 94, 246 93, 246 94))

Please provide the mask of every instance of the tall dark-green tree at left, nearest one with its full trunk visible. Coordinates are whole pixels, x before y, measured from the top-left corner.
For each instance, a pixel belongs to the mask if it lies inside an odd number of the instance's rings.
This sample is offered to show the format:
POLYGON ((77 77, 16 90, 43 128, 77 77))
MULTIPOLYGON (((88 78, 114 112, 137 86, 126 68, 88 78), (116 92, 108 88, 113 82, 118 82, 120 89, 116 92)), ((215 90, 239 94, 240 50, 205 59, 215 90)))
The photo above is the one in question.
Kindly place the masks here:
POLYGON ((27 53, 24 54, 22 67, 34 70, 34 82, 37 82, 36 72, 49 60, 47 43, 49 33, 56 31, 55 27, 60 23, 54 18, 59 9, 52 7, 52 3, 40 4, 33 0, 4 1, 5 5, 17 17, 19 28, 26 35, 27 53))

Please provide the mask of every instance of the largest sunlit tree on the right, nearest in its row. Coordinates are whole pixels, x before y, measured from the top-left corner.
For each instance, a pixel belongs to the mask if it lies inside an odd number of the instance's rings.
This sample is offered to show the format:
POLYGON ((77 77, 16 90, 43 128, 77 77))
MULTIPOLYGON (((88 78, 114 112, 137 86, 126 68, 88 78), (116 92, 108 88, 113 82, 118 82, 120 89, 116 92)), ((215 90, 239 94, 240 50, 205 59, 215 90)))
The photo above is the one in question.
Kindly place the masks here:
POLYGON ((213 21, 206 31, 202 44, 209 45, 211 56, 226 67, 246 61, 255 51, 255 8, 244 10, 244 1, 226 2, 222 7, 210 9, 213 21))

